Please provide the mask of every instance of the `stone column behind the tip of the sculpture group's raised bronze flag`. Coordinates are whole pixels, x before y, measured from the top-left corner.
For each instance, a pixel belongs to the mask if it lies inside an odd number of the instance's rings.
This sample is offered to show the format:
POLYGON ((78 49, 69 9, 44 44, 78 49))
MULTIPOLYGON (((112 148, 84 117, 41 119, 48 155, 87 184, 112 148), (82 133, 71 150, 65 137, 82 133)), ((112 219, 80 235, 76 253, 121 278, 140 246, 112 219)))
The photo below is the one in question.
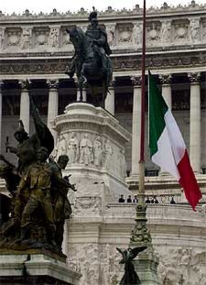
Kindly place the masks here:
POLYGON ((29 84, 28 80, 19 80, 21 87, 20 96, 20 120, 23 122, 25 131, 29 134, 30 121, 30 101, 29 101, 29 84))

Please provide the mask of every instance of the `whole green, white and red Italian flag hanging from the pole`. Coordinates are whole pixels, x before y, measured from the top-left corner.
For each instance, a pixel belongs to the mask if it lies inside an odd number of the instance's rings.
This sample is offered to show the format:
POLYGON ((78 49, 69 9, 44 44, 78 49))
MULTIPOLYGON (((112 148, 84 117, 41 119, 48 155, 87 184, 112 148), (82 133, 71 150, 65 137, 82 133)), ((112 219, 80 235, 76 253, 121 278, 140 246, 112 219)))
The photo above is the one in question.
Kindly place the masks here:
POLYGON ((149 72, 149 148, 152 161, 175 176, 193 210, 202 198, 180 129, 149 72))

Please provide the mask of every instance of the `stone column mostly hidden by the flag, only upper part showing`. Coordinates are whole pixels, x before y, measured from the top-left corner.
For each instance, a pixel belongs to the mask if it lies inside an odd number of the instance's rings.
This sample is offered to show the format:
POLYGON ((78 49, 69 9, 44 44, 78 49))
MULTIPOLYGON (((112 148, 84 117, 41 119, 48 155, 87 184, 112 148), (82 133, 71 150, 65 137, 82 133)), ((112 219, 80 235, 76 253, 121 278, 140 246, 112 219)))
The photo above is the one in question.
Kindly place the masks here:
POLYGON ((167 106, 172 110, 172 75, 171 74, 161 74, 159 76, 160 82, 162 83, 162 96, 167 103, 167 106))

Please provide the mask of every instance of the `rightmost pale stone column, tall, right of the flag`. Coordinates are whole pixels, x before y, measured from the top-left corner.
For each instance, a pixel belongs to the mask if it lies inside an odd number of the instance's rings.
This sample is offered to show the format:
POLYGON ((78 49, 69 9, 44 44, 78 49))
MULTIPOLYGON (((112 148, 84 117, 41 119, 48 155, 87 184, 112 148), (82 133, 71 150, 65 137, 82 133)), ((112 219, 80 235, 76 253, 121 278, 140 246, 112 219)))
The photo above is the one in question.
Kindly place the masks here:
POLYGON ((189 73, 190 79, 190 160, 193 170, 201 170, 201 96, 200 72, 189 73))

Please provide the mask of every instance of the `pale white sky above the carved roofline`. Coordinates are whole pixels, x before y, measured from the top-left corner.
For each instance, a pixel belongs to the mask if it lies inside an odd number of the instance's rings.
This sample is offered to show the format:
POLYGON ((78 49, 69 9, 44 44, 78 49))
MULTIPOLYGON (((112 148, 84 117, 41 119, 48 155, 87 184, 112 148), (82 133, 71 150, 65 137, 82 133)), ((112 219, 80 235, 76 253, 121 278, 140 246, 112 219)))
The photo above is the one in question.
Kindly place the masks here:
MULTIPOLYGON (((189 4, 191 0, 146 0, 147 7, 150 6, 161 6, 164 2, 167 2, 168 5, 182 5, 189 4)), ((197 3, 206 3, 206 0, 196 0, 197 3)), ((108 6, 112 6, 115 9, 133 8, 135 4, 139 4, 142 7, 143 0, 4 0, 1 1, 0 10, 3 13, 12 12, 23 13, 25 9, 29 9, 30 12, 39 13, 42 12, 51 12, 54 8, 59 12, 77 11, 81 7, 84 7, 86 10, 91 10, 92 6, 95 6, 98 10, 105 10, 108 6)))

